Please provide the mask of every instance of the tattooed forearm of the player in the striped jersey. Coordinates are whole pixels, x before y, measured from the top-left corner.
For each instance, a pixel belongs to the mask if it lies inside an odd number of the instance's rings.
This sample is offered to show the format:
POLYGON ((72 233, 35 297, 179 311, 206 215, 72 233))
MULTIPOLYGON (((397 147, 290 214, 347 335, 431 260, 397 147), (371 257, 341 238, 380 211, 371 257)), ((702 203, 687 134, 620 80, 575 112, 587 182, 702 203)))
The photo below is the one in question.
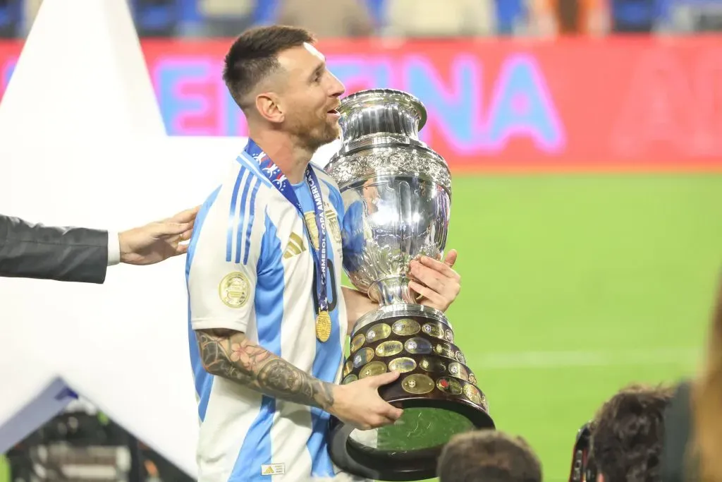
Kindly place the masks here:
POLYGON ((283 358, 258 346, 241 332, 198 330, 196 339, 203 366, 271 397, 327 410, 334 404, 333 384, 321 382, 283 358))

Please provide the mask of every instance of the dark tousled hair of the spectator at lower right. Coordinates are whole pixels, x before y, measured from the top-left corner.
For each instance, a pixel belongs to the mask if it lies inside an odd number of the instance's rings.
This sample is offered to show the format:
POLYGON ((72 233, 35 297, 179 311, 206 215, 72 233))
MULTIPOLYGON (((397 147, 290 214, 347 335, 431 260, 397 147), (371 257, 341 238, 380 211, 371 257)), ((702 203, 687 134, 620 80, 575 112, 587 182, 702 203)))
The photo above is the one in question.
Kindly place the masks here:
POLYGON ((632 384, 601 406, 591 425, 591 457, 606 482, 661 481, 664 410, 674 390, 632 384))

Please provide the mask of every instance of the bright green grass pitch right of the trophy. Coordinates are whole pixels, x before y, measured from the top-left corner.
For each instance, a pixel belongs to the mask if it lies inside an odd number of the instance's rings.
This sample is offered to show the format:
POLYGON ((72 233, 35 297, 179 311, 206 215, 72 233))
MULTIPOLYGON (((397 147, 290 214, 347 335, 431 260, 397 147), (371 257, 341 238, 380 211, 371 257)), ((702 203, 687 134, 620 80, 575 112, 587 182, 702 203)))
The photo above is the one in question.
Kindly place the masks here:
POLYGON ((456 343, 546 481, 566 480, 577 429, 620 387, 695 370, 722 176, 456 176, 449 229, 456 343))

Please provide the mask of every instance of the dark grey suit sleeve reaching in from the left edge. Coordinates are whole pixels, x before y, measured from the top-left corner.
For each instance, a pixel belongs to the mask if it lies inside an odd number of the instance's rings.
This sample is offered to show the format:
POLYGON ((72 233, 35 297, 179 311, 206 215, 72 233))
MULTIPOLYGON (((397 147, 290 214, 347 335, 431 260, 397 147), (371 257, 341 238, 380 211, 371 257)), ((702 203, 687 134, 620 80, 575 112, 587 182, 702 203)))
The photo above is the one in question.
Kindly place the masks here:
POLYGON ((30 224, 0 215, 0 276, 103 283, 108 233, 30 224))

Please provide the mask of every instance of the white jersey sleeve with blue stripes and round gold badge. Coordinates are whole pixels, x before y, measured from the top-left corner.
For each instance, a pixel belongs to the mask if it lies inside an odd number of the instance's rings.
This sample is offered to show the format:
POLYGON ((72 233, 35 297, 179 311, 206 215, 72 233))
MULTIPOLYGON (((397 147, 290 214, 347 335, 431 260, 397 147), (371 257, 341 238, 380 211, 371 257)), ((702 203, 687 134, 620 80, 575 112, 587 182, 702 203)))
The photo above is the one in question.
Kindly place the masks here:
POLYGON ((245 196, 239 193, 235 203, 235 207, 231 200, 214 206, 200 228, 196 221, 198 238, 191 239, 188 249, 188 308, 193 330, 246 332, 255 321, 264 208, 252 190, 245 196))

